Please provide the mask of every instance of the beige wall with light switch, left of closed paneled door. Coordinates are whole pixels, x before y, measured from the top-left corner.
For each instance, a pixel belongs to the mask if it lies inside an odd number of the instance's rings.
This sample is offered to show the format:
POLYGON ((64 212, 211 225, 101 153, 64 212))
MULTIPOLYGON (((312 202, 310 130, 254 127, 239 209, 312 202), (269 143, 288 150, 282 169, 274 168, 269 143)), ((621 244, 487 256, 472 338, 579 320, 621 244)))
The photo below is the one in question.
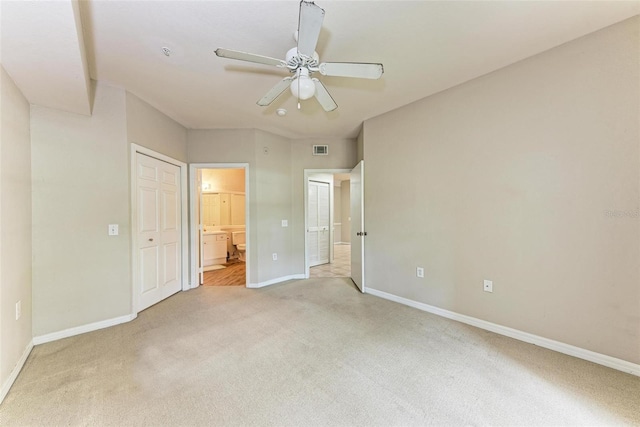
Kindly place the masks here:
POLYGON ((35 336, 131 312, 125 92, 94 90, 91 117, 31 109, 35 336))

